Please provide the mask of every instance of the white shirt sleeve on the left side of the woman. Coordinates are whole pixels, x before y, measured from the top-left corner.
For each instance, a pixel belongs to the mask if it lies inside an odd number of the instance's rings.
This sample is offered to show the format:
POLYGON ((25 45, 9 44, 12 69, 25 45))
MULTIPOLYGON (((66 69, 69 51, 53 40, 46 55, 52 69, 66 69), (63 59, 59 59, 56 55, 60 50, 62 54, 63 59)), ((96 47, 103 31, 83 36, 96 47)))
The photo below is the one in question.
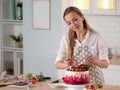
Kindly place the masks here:
POLYGON ((68 37, 66 34, 64 34, 60 41, 55 63, 60 60, 65 60, 65 58, 67 57, 67 49, 68 49, 68 37))

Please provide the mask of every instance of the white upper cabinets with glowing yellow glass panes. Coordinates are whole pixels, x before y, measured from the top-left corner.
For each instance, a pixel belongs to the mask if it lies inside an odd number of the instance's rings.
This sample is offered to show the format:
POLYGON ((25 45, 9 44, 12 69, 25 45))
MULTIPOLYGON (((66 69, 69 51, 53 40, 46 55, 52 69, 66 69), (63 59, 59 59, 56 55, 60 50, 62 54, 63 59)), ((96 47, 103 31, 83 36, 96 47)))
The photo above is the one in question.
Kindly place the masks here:
POLYGON ((120 0, 62 0, 62 3, 66 7, 76 6, 80 8, 84 14, 120 15, 120 0))

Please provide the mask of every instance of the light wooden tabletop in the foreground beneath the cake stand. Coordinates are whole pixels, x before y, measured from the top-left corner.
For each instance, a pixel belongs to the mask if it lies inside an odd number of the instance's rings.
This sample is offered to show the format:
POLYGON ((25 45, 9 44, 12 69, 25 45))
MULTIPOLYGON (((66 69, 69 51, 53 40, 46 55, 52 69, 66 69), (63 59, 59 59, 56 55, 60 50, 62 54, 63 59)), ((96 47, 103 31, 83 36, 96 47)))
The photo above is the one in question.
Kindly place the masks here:
MULTIPOLYGON (((37 82, 33 85, 32 89, 29 89, 28 86, 5 86, 0 87, 0 90, 69 90, 67 87, 61 86, 61 87, 50 87, 48 84, 50 84, 52 80, 46 80, 44 82, 37 82)), ((71 90, 71 89, 70 89, 71 90)), ((72 89, 73 90, 73 89, 72 89)), ((120 86, 114 86, 114 85, 104 85, 103 90, 120 90, 120 86)))

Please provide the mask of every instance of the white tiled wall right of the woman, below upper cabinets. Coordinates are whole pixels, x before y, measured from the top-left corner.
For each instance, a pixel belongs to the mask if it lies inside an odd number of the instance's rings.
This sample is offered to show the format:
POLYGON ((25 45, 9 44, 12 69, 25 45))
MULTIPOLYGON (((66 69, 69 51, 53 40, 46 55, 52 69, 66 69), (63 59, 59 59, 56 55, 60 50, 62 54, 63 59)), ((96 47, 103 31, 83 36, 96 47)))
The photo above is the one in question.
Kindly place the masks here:
POLYGON ((86 15, 86 18, 96 31, 98 31, 112 54, 115 53, 114 47, 120 46, 120 16, 112 15, 86 15))

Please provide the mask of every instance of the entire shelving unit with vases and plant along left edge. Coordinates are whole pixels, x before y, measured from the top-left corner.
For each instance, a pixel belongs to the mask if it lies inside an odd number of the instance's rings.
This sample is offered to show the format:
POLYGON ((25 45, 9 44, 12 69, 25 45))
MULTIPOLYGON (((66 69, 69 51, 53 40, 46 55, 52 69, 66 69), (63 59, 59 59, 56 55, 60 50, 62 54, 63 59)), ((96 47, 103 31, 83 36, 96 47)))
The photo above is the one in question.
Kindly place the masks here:
POLYGON ((17 4, 21 2, 22 0, 0 0, 0 72, 7 71, 11 75, 23 73, 23 47, 16 46, 16 42, 10 38, 10 35, 23 34, 22 20, 17 18, 17 4), (10 6, 13 5, 12 2, 14 7, 10 6))

